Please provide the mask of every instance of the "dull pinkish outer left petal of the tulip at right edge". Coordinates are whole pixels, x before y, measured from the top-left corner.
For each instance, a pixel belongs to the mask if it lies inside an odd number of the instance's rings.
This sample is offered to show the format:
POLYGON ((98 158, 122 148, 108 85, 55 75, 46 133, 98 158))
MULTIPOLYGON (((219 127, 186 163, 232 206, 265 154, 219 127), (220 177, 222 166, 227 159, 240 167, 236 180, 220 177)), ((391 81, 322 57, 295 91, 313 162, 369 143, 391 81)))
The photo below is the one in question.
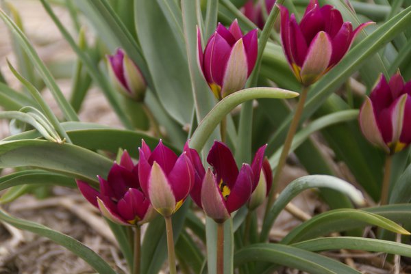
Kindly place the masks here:
POLYGON ((375 111, 373 108, 373 103, 371 99, 366 97, 364 104, 360 109, 359 122, 362 134, 366 137, 369 142, 373 143, 375 146, 383 148, 386 152, 389 152, 389 148, 384 142, 382 133, 379 130, 377 120, 375 118, 375 111))

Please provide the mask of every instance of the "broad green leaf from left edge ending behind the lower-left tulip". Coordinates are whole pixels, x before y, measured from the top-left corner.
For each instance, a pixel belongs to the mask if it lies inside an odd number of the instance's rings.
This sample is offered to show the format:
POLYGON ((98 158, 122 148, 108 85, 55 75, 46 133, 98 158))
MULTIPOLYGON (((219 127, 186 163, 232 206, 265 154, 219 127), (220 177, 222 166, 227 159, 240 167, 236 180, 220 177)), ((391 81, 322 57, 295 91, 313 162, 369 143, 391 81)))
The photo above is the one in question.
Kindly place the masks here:
POLYGON ((107 176, 112 161, 69 143, 43 140, 0 141, 0 168, 38 167, 97 182, 107 176))

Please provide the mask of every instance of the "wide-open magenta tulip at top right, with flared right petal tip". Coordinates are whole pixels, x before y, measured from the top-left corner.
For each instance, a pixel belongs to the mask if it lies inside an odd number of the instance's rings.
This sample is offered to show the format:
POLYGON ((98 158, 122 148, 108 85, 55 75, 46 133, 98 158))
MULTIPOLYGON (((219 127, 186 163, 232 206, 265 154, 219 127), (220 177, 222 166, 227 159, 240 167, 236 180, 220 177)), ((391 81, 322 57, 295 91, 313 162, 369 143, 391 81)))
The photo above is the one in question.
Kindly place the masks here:
POLYGON ((287 61, 297 80, 309 86, 335 66, 347 53, 358 33, 367 25, 355 30, 350 22, 332 5, 320 8, 317 0, 310 0, 298 24, 295 15, 281 11, 281 39, 287 61))

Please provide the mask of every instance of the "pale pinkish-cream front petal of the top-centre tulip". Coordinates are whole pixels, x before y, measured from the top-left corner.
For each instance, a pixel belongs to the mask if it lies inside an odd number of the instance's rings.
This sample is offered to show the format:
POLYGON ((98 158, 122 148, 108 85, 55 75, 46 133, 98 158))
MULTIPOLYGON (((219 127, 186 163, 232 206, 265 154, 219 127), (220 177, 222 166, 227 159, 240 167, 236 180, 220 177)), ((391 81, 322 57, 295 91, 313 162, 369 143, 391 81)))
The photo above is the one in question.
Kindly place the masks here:
POLYGON ((234 44, 225 67, 222 97, 228 96, 233 92, 241 90, 247 81, 247 55, 245 53, 242 39, 234 44))

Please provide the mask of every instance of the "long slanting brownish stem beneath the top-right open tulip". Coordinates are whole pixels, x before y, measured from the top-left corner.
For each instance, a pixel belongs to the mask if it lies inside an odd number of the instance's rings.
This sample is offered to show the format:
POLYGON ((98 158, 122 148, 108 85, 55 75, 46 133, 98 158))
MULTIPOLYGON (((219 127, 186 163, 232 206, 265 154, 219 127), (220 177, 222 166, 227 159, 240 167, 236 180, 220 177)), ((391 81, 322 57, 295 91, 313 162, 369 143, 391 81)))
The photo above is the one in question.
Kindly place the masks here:
POLYGON ((294 138, 295 132, 297 131, 299 120, 301 118, 301 113, 303 113, 304 103, 306 102, 307 94, 308 94, 308 87, 303 87, 303 90, 301 91, 301 95, 299 97, 297 109, 295 110, 295 114, 294 114, 294 117, 292 118, 290 128, 288 129, 286 140, 284 141, 284 147, 281 152, 281 156, 279 156, 278 165, 277 167, 275 167, 275 175, 273 178, 273 188, 271 189, 271 192, 269 194, 269 200, 267 202, 265 215, 267 215, 267 213, 269 212, 269 209, 274 203, 275 193, 277 193, 277 190, 278 190, 277 184, 278 184, 279 176, 281 175, 282 169, 284 168, 284 165, 288 157, 288 153, 290 152, 292 139, 294 138))

